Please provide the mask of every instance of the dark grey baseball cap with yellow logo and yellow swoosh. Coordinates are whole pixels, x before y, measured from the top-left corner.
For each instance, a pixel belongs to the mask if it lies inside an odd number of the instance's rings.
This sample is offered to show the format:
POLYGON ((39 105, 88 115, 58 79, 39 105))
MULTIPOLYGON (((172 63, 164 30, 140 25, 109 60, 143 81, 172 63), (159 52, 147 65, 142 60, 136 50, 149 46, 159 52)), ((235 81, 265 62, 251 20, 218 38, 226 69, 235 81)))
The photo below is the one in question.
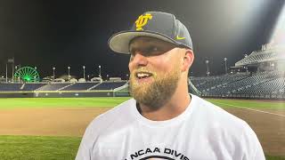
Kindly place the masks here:
POLYGON ((137 36, 151 36, 160 40, 193 49, 191 36, 175 15, 167 12, 144 12, 134 21, 130 30, 114 34, 109 39, 110 49, 118 53, 129 53, 129 44, 137 36))

